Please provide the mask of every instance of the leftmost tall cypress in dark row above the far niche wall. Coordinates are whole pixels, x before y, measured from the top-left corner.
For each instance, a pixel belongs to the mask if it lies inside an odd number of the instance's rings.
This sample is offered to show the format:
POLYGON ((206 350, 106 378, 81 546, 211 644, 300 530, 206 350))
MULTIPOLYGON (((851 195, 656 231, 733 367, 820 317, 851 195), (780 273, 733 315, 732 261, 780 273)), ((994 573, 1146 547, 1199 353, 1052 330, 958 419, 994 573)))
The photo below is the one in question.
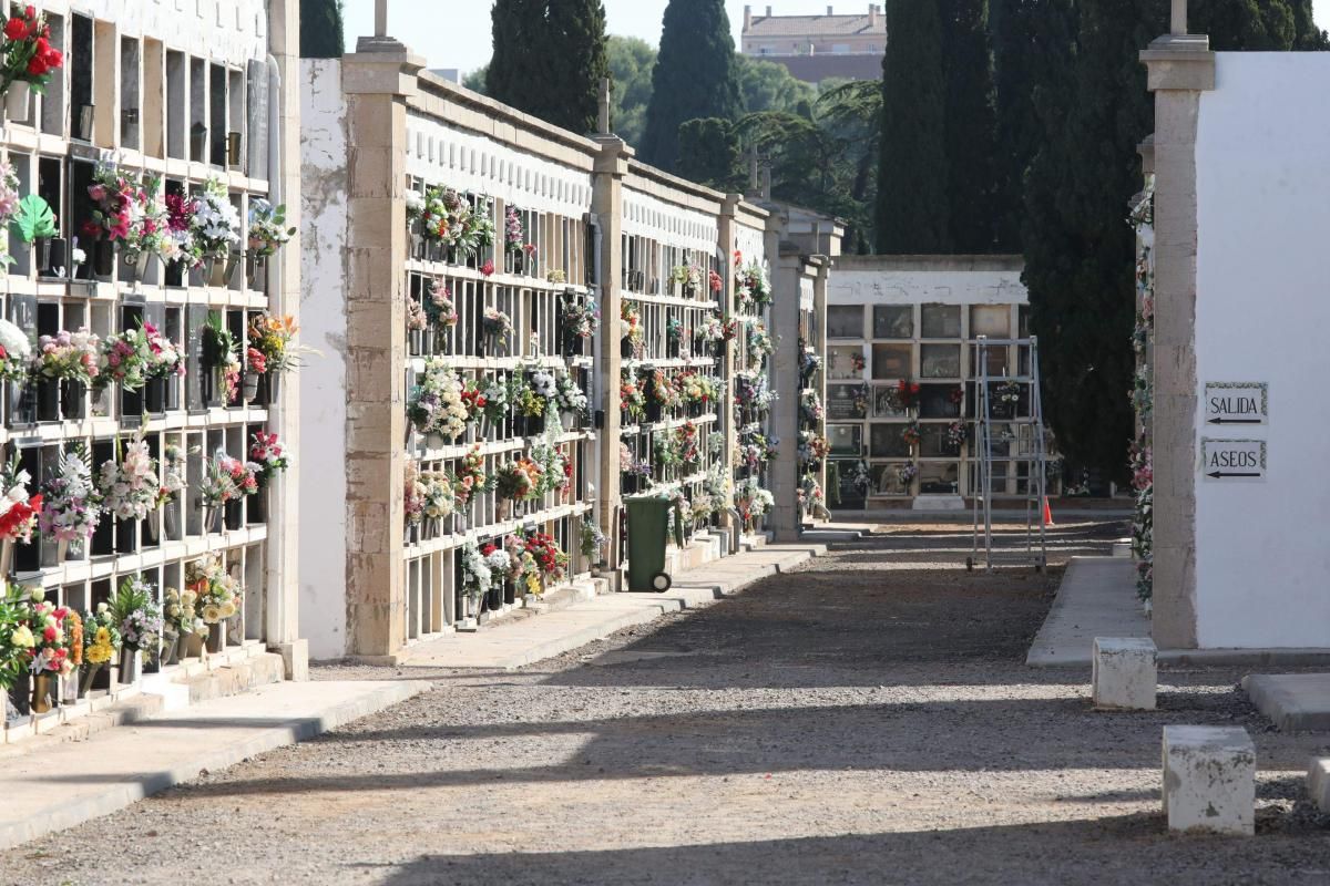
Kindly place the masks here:
POLYGON ((950 252, 946 78, 938 0, 887 0, 878 251, 950 252))

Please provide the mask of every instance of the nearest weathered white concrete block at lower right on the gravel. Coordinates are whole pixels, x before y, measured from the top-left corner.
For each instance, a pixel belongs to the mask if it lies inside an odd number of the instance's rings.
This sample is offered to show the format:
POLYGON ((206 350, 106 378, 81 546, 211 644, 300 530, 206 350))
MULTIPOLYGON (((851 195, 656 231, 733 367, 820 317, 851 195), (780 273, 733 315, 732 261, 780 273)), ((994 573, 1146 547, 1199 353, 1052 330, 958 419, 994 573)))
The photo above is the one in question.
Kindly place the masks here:
POLYGON ((1169 830, 1256 833, 1256 745, 1241 727, 1164 727, 1169 830))

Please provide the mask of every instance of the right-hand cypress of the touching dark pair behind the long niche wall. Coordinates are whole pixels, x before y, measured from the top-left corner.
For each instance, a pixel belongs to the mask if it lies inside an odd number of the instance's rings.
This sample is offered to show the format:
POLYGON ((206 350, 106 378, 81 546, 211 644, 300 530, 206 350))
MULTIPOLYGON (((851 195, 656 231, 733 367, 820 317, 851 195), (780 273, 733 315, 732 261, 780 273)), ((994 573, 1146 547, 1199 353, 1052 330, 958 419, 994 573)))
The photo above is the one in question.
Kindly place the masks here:
POLYGON ((609 76, 605 54, 605 4, 601 0, 549 0, 547 33, 551 80, 549 105, 532 110, 555 126, 575 133, 596 130, 600 81, 609 76))

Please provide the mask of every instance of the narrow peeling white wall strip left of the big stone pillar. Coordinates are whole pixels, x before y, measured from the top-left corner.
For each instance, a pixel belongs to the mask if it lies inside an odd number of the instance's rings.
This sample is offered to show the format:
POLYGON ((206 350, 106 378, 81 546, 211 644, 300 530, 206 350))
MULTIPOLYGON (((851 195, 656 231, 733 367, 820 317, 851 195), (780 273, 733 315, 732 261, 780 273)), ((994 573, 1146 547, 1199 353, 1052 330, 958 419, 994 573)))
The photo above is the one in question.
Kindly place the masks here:
POLYGON ((301 60, 301 636, 346 655, 346 224, 342 62, 301 60))

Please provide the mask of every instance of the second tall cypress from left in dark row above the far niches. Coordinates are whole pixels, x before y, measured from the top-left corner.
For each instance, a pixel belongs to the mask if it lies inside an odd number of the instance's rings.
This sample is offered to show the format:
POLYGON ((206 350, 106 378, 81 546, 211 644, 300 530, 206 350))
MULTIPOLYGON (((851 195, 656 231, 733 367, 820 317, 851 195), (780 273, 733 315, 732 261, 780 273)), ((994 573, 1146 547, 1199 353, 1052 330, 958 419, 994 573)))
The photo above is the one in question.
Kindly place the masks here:
POLYGON ((998 121, 988 0, 939 0, 939 11, 951 246, 958 252, 992 252, 998 121))

